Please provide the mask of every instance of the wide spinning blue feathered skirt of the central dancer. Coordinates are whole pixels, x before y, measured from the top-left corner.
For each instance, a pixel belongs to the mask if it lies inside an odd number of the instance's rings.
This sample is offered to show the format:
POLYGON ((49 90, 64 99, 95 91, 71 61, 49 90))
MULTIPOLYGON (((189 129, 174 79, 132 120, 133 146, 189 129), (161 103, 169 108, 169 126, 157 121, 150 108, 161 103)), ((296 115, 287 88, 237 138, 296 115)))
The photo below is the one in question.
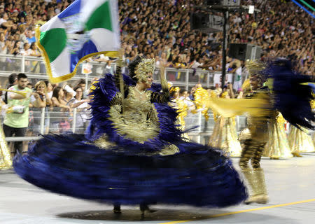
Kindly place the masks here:
POLYGON ((227 207, 247 197, 244 183, 221 151, 176 144, 180 153, 94 146, 83 135, 47 135, 15 157, 15 172, 54 193, 120 204, 186 204, 227 207))

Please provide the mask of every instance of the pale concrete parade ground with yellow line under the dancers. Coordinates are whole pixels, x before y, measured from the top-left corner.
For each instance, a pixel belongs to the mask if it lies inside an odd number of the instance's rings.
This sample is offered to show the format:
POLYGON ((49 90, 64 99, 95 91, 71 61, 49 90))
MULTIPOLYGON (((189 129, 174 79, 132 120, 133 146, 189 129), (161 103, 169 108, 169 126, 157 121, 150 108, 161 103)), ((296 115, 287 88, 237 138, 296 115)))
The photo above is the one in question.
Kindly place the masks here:
MULTIPOLYGON (((239 158, 232 159, 239 170, 239 158)), ((151 206, 155 213, 141 216, 139 207, 123 206, 113 214, 111 204, 57 195, 20 179, 13 170, 0 172, 1 224, 108 223, 315 223, 315 153, 302 158, 262 158, 270 201, 223 209, 151 206)))

